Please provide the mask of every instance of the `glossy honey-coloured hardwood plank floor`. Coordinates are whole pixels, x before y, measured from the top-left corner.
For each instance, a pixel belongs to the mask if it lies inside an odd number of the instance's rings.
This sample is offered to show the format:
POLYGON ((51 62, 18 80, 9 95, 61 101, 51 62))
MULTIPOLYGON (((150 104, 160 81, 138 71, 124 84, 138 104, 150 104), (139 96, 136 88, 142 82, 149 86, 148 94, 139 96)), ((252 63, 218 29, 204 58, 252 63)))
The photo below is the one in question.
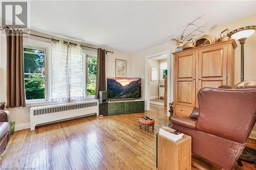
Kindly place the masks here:
MULTIPOLYGON (((0 158, 0 169, 157 169, 156 133, 169 124, 163 106, 145 112, 155 130, 140 130, 144 113, 83 117, 16 131, 0 158)), ((221 169, 193 155, 193 169, 221 169)), ((246 164, 233 169, 253 169, 246 164)))

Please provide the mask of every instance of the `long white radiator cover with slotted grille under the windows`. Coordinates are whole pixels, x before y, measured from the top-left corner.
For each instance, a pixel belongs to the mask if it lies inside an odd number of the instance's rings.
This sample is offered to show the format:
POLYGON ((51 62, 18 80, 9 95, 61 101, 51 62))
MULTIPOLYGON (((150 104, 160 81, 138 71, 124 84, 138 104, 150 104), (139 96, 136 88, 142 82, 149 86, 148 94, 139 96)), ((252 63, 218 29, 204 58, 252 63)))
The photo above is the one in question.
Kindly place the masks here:
POLYGON ((30 130, 35 130, 36 125, 52 123, 93 113, 99 115, 98 100, 31 107, 30 130))

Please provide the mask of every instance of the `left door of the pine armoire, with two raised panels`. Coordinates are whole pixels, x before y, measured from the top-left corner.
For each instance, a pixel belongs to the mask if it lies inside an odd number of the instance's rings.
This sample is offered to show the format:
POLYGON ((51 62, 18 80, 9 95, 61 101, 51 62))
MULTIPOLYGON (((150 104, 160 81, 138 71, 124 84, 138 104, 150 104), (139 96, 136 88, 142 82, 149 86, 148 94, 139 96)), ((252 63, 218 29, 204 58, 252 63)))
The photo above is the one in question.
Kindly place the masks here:
POLYGON ((196 52, 175 56, 175 104, 195 107, 196 52))

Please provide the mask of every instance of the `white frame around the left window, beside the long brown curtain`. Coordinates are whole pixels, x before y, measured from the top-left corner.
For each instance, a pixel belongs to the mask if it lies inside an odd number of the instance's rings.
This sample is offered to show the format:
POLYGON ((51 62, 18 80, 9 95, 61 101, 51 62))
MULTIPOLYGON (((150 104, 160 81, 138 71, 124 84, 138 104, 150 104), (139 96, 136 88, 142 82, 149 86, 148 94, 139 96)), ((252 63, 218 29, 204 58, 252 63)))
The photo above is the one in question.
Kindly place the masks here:
MULTIPOLYGON (((42 41, 37 41, 37 40, 30 40, 30 39, 24 39, 25 42, 23 42, 23 57, 24 57, 24 48, 31 48, 35 50, 42 50, 45 51, 45 98, 44 99, 26 99, 26 103, 28 105, 31 104, 40 104, 40 103, 51 103, 51 76, 50 76, 50 44, 42 41)), ((32 54, 32 53, 31 53, 32 54)), ((25 76, 25 72, 24 72, 25 76)), ((25 82, 25 78, 24 78, 25 82)), ((25 88, 25 86, 24 86, 25 88)), ((26 89, 25 89, 25 98, 26 98, 26 89)))

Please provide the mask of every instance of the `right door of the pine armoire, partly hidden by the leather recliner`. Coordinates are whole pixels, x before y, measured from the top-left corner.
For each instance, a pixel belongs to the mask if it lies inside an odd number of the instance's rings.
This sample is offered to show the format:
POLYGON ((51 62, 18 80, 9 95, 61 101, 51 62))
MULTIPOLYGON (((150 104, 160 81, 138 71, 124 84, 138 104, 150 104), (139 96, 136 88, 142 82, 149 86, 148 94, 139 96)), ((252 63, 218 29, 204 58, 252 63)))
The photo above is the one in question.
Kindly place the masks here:
POLYGON ((199 50, 197 60, 196 93, 203 87, 218 88, 227 83, 227 45, 199 50))

